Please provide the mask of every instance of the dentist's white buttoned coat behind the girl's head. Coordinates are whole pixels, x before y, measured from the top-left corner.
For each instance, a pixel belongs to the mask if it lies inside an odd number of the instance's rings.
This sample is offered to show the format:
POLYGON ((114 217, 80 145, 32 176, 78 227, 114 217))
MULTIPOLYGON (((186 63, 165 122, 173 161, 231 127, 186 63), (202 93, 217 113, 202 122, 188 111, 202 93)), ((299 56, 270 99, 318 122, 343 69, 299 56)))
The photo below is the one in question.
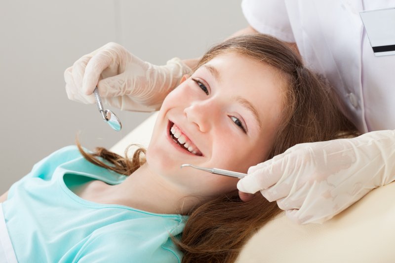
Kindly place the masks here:
POLYGON ((359 16, 395 7, 395 0, 243 0, 241 6, 258 32, 297 43, 306 66, 334 86, 360 131, 395 129, 395 55, 374 56, 359 16))

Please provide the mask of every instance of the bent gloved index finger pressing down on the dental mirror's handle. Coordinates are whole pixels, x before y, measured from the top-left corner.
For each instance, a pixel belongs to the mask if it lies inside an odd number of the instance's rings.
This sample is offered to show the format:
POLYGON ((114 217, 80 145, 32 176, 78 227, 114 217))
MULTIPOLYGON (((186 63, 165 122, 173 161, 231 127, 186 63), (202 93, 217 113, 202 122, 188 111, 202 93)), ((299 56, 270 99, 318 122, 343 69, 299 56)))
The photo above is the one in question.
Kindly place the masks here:
POLYGON ((115 60, 116 58, 112 58, 110 52, 100 50, 88 61, 82 79, 82 92, 85 95, 93 93, 93 90, 99 82, 100 75, 106 68, 110 67, 115 60))

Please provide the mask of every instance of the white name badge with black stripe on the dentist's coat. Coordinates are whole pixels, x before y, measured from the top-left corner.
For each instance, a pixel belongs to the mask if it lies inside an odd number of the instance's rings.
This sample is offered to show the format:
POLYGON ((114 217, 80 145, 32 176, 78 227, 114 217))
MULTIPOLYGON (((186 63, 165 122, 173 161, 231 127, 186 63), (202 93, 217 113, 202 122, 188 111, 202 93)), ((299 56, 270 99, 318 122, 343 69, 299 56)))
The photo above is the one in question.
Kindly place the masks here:
POLYGON ((359 12, 374 55, 395 55, 395 6, 359 12))

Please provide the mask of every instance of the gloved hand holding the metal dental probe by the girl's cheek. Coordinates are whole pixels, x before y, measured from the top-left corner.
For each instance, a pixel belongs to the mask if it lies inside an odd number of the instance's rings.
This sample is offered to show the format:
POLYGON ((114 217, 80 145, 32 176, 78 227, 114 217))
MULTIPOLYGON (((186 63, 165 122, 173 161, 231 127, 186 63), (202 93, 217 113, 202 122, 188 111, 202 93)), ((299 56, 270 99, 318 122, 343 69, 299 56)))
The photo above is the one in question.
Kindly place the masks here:
POLYGON ((260 190, 292 221, 306 224, 331 219, 371 189, 394 180, 395 130, 387 130, 296 145, 250 167, 237 188, 260 190))

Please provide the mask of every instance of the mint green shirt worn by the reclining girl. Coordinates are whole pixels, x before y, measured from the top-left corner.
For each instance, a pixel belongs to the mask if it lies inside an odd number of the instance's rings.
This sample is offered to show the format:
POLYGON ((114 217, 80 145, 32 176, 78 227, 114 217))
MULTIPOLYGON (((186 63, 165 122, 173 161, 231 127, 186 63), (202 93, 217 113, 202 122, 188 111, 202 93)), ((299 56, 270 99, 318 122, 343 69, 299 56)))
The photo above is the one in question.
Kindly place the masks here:
POLYGON ((86 161, 75 146, 35 164, 2 203, 18 262, 181 262, 169 234, 178 237, 187 217, 94 203, 69 189, 91 179, 115 185, 125 178, 86 161))

